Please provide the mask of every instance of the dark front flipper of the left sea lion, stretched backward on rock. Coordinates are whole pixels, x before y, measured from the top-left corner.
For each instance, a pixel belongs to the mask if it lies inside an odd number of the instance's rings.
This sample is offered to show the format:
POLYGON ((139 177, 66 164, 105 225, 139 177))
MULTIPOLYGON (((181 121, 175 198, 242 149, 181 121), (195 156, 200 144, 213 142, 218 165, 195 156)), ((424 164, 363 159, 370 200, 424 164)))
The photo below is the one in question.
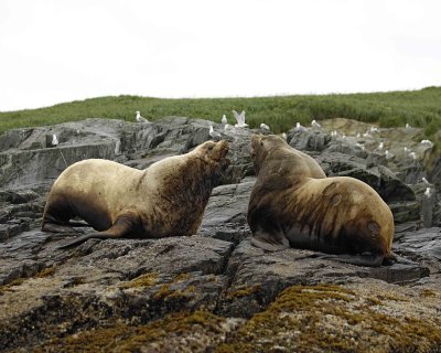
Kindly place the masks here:
POLYGON ((58 246, 58 249, 65 249, 74 245, 78 245, 90 238, 99 238, 99 239, 120 238, 127 235, 128 233, 132 232, 138 226, 137 222, 138 221, 132 216, 132 214, 121 215, 115 221, 112 226, 107 231, 94 232, 78 236, 71 242, 58 246))

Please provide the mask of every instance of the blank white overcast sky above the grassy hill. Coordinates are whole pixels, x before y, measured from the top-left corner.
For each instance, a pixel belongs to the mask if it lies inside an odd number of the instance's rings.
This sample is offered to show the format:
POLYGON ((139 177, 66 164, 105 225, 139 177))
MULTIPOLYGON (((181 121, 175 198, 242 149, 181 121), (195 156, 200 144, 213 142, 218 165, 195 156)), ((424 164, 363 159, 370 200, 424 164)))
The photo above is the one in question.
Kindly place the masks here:
POLYGON ((439 0, 0 0, 0 110, 441 85, 439 0))

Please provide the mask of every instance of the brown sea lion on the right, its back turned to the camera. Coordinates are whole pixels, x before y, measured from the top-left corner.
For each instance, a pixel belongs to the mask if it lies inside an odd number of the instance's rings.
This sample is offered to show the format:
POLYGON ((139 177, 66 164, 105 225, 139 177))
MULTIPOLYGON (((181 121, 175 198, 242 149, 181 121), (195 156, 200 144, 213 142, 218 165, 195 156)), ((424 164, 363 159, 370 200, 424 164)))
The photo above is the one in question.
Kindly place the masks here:
POLYGON ((326 178, 314 159, 275 135, 254 135, 251 158, 257 173, 247 215, 252 245, 338 254, 322 257, 365 266, 395 259, 392 213, 369 185, 326 178))

